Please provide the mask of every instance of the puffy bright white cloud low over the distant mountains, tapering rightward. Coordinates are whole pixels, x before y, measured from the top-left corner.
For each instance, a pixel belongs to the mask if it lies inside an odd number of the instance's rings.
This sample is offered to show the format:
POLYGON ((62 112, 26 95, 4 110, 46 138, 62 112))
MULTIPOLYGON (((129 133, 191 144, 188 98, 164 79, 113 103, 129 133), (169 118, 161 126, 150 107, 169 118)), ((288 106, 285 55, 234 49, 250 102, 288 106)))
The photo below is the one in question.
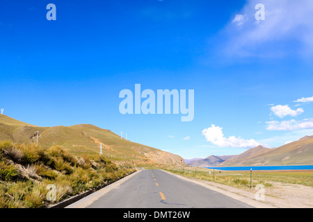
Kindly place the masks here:
POLYGON ((226 138, 223 134, 223 128, 215 126, 214 124, 211 127, 202 130, 202 135, 205 136, 207 142, 211 142, 220 147, 240 147, 240 148, 252 148, 259 146, 260 144, 255 141, 255 139, 241 139, 234 136, 226 138))

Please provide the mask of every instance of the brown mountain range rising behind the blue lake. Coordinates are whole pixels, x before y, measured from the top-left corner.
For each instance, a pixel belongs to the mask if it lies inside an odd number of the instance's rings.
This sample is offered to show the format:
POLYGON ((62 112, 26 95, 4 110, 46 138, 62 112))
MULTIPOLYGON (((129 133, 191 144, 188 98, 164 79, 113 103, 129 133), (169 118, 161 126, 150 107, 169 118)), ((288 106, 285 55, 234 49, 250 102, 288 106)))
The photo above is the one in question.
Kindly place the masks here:
POLYGON ((313 164, 313 136, 305 136, 278 148, 257 146, 240 155, 215 156, 204 159, 185 160, 195 167, 236 167, 264 165, 310 165, 313 164))

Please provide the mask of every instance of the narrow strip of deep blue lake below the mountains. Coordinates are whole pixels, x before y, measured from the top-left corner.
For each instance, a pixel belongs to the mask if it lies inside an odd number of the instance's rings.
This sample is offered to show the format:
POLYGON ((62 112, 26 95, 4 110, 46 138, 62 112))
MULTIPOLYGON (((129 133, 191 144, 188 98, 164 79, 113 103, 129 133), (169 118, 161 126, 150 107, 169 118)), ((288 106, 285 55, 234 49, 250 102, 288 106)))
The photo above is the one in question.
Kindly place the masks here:
POLYGON ((257 167, 205 167, 207 169, 218 169, 221 171, 278 171, 278 170, 300 170, 313 169, 313 165, 298 166, 257 166, 257 167))

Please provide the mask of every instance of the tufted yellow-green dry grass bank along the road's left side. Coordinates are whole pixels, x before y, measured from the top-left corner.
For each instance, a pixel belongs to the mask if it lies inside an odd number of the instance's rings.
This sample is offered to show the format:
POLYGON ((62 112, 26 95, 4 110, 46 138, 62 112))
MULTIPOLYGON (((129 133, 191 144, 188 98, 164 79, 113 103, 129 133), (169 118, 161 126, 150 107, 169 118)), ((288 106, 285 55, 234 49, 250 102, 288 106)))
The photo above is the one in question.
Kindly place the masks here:
POLYGON ((0 208, 45 207, 71 195, 118 180, 134 168, 118 167, 105 157, 79 157, 58 146, 47 150, 34 144, 0 142, 0 208), (13 151, 20 152, 21 158, 13 151), (47 187, 54 185, 56 200, 47 187))

